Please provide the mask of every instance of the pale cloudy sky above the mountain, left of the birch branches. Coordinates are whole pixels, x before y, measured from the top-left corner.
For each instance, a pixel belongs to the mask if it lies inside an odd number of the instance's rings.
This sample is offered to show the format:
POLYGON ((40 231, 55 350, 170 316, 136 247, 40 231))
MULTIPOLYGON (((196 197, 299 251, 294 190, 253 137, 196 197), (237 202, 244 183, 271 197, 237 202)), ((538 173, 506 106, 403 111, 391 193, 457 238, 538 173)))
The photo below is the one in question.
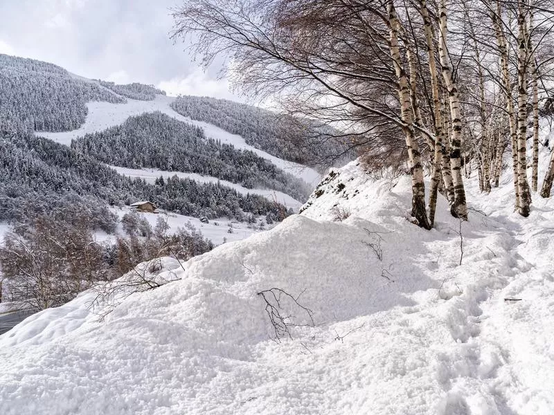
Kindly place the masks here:
POLYGON ((0 0, 0 53, 33 57, 85 77, 155 84, 170 95, 237 96, 219 68, 204 73, 173 44, 179 0, 0 0))

